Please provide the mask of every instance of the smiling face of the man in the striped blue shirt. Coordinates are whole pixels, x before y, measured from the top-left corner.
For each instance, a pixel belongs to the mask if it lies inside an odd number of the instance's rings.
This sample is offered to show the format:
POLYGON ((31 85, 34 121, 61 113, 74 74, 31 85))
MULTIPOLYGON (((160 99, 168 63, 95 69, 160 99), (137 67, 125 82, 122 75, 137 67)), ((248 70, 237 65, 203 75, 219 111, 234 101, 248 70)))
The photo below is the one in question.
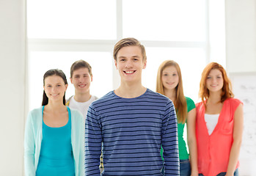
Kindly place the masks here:
POLYGON ((121 82, 142 81, 142 70, 147 65, 147 60, 142 57, 139 46, 125 46, 117 53, 114 63, 119 71, 121 82))

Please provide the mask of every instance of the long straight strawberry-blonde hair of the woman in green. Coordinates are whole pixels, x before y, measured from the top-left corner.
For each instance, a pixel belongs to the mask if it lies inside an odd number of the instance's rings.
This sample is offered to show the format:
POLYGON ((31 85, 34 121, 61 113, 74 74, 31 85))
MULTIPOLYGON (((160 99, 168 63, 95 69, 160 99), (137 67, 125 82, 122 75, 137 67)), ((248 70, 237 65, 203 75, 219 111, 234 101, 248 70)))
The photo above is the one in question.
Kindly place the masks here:
POLYGON ((183 83, 182 83, 182 76, 180 72, 180 66, 178 65, 177 62, 173 60, 166 60, 163 63, 161 63, 161 65, 158 68, 158 73, 156 78, 156 92, 161 93, 162 95, 165 95, 164 85, 161 78, 163 75, 163 70, 166 67, 170 67, 170 66, 173 66, 176 68, 179 76, 178 85, 177 87, 175 87, 176 100, 175 102, 173 102, 175 105, 175 111, 177 113, 177 119, 178 119, 178 122, 185 123, 188 115, 188 110, 187 110, 186 98, 183 93, 183 83))

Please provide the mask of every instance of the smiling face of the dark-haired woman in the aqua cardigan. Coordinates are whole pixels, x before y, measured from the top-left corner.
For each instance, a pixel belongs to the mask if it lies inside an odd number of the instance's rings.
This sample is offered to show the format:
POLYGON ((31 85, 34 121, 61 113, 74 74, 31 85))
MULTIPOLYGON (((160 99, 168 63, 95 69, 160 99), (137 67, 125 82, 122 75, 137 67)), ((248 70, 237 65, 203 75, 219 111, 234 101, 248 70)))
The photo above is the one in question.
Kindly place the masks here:
POLYGON ((60 76, 48 76, 44 80, 43 89, 49 101, 62 102, 67 90, 67 84, 65 84, 60 76))

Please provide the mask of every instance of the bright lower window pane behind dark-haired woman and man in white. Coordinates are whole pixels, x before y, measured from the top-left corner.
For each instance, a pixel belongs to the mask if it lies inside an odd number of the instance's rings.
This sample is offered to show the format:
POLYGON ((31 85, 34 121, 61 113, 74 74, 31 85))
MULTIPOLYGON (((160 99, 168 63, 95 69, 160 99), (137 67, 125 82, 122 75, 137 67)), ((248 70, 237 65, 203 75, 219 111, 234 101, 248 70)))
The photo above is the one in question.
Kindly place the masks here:
POLYGON ((113 59, 107 52, 31 52, 29 56, 29 110, 37 108, 43 98, 43 74, 52 68, 59 68, 67 77, 66 98, 74 95, 70 83, 70 66, 76 60, 84 59, 92 66, 92 95, 105 95, 112 89, 113 59))

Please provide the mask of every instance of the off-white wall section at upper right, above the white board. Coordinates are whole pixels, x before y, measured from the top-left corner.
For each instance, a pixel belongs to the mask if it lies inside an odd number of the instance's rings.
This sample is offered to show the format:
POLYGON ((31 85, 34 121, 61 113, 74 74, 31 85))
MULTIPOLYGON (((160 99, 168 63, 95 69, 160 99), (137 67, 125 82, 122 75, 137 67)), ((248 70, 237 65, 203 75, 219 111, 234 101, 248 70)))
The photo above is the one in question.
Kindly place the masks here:
POLYGON ((229 73, 256 71, 256 1, 226 0, 226 54, 229 73))

